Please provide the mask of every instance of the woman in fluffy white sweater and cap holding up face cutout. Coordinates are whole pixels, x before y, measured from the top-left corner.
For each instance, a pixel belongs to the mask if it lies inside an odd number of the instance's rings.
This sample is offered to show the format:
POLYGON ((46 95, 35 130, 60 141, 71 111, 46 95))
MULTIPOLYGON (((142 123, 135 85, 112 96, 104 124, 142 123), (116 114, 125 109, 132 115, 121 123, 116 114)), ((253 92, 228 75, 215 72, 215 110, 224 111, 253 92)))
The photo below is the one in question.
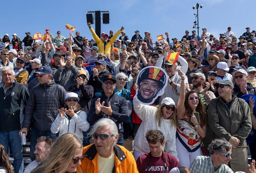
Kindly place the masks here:
MULTIPOLYGON (((135 84, 138 88, 138 85, 135 84)), ((162 100, 161 105, 150 106, 138 102, 137 98, 133 99, 134 111, 142 120, 140 127, 134 139, 134 157, 138 159, 140 155, 150 152, 146 139, 148 130, 159 130, 164 134, 163 150, 175 156, 178 160, 176 151, 176 116, 175 103, 170 97, 162 100)))

